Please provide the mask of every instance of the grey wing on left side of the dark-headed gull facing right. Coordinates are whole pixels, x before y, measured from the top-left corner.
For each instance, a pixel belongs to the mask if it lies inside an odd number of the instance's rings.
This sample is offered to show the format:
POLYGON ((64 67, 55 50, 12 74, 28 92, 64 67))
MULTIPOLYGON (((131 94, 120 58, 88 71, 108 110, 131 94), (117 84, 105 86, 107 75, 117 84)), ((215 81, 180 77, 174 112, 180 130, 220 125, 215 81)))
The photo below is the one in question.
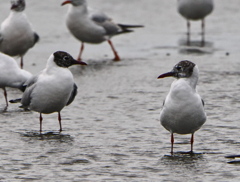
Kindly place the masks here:
POLYGON ((28 81, 25 82, 24 87, 26 88, 25 88, 25 91, 23 92, 21 107, 28 108, 28 106, 30 105, 31 99, 32 99, 31 95, 34 88, 36 87, 37 79, 38 79, 38 75, 30 78, 28 81))

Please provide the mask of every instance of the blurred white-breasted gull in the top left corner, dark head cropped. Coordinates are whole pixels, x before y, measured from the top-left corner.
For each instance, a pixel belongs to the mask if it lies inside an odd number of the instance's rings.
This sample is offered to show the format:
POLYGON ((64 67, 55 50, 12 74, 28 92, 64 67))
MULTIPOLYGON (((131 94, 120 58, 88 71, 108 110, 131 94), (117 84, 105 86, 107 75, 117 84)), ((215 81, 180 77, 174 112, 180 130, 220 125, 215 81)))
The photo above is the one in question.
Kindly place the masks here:
POLYGON ((0 51, 10 56, 20 56, 21 68, 24 54, 39 40, 24 9, 25 0, 12 1, 11 12, 0 28, 0 51))

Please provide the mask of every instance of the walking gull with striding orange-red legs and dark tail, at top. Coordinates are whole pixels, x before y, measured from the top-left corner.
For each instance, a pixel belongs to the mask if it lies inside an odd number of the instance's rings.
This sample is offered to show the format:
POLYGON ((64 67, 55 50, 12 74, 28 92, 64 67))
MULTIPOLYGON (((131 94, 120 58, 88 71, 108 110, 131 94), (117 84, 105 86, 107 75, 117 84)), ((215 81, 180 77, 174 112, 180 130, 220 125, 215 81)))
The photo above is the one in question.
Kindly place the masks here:
POLYGON ((77 60, 81 60, 84 43, 99 44, 108 41, 114 53, 114 61, 119 61, 111 37, 132 32, 131 28, 143 27, 142 25, 116 24, 110 17, 102 12, 87 7, 86 0, 67 0, 62 5, 71 4, 67 13, 66 24, 75 38, 81 41, 81 48, 77 60))

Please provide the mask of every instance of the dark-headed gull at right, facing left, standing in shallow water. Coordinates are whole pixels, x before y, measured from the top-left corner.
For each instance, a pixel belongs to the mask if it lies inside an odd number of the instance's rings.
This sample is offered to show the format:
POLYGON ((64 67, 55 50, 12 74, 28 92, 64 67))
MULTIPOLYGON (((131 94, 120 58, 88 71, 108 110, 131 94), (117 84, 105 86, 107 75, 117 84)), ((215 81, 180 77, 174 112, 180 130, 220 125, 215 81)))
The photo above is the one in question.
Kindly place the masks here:
POLYGON ((163 103, 160 122, 171 133, 171 153, 173 154, 174 133, 192 134, 193 152, 194 132, 206 121, 204 102, 196 91, 198 67, 190 61, 180 61, 173 70, 158 78, 175 77, 170 91, 163 103))

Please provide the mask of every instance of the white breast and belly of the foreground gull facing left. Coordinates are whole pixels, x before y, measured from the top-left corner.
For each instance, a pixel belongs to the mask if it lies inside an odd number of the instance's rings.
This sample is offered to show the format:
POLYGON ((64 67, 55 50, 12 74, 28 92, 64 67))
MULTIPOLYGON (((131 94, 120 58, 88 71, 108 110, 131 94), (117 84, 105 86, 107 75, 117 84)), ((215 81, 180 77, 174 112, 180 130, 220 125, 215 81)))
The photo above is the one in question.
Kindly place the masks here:
POLYGON ((160 121, 172 133, 194 133, 206 121, 199 94, 187 85, 171 88, 160 113, 160 121))

